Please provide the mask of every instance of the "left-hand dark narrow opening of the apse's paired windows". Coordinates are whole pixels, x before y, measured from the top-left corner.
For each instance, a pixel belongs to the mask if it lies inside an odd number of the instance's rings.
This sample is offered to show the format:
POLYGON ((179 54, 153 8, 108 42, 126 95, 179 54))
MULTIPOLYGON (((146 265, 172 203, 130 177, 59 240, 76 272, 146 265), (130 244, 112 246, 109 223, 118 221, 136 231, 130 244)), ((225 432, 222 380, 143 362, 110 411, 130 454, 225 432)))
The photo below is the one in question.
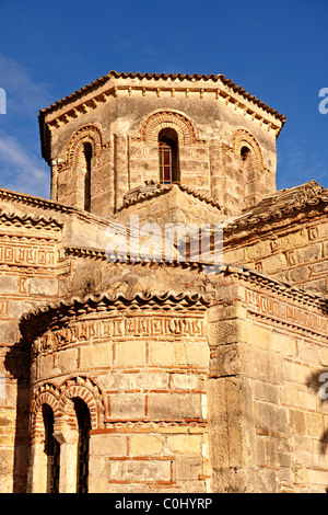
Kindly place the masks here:
POLYGON ((47 493, 59 493, 60 445, 54 437, 54 412, 48 404, 43 405, 45 425, 45 454, 47 456, 47 493))

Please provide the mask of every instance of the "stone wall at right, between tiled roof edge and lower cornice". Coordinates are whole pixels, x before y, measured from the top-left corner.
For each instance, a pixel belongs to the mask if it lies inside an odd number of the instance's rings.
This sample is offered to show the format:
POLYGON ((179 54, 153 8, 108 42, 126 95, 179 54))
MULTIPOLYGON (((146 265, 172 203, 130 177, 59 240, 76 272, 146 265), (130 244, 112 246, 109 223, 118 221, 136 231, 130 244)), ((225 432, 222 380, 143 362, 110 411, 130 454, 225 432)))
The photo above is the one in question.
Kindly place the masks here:
POLYGON ((249 227, 225 243, 224 262, 249 266, 281 281, 315 291, 328 291, 328 222, 324 213, 313 219, 285 218, 283 222, 249 227))

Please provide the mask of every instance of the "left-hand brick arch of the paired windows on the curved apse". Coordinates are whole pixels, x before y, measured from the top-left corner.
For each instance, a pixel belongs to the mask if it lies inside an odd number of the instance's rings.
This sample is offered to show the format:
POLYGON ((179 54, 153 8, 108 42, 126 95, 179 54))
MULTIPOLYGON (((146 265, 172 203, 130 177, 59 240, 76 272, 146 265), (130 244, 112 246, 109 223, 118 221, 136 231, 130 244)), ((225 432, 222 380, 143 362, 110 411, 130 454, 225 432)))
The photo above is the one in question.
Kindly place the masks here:
POLYGON ((54 417, 58 416, 59 389, 52 384, 40 386, 33 394, 31 402, 31 439, 39 442, 45 437, 43 407, 48 404, 54 417))

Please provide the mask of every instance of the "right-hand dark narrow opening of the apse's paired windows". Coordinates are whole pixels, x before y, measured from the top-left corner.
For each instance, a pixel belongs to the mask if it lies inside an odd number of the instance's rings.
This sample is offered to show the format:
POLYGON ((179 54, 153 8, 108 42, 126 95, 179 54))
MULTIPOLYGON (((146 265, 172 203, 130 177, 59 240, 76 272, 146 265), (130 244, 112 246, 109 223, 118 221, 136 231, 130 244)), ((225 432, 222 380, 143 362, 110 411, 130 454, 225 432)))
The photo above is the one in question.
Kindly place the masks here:
POLYGON ((79 426, 77 492, 87 493, 91 417, 87 405, 81 399, 74 399, 74 408, 79 426))

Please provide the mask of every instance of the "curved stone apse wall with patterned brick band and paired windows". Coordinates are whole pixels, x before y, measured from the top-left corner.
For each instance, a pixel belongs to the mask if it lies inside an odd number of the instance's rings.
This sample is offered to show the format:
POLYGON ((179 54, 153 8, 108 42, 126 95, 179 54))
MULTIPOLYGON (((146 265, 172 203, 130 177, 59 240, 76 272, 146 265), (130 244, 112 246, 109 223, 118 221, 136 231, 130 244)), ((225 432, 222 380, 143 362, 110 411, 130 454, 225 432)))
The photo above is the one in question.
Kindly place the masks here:
MULTIPOLYGON (((44 488, 37 476, 38 399, 50 403, 55 433, 70 445, 72 425, 66 424, 66 413, 68 399, 75 396, 92 415, 90 492, 204 492, 209 347, 201 306, 163 310, 134 302, 106 313, 102 304, 93 312, 85 309, 89 314, 82 311, 83 306, 75 320, 48 330, 33 344, 31 491, 44 488), (94 390, 83 393, 85 377, 96 385, 95 408, 94 390), (43 397, 47 391, 56 401, 43 397)), ((63 446, 60 456, 60 490, 74 491, 63 446)))

